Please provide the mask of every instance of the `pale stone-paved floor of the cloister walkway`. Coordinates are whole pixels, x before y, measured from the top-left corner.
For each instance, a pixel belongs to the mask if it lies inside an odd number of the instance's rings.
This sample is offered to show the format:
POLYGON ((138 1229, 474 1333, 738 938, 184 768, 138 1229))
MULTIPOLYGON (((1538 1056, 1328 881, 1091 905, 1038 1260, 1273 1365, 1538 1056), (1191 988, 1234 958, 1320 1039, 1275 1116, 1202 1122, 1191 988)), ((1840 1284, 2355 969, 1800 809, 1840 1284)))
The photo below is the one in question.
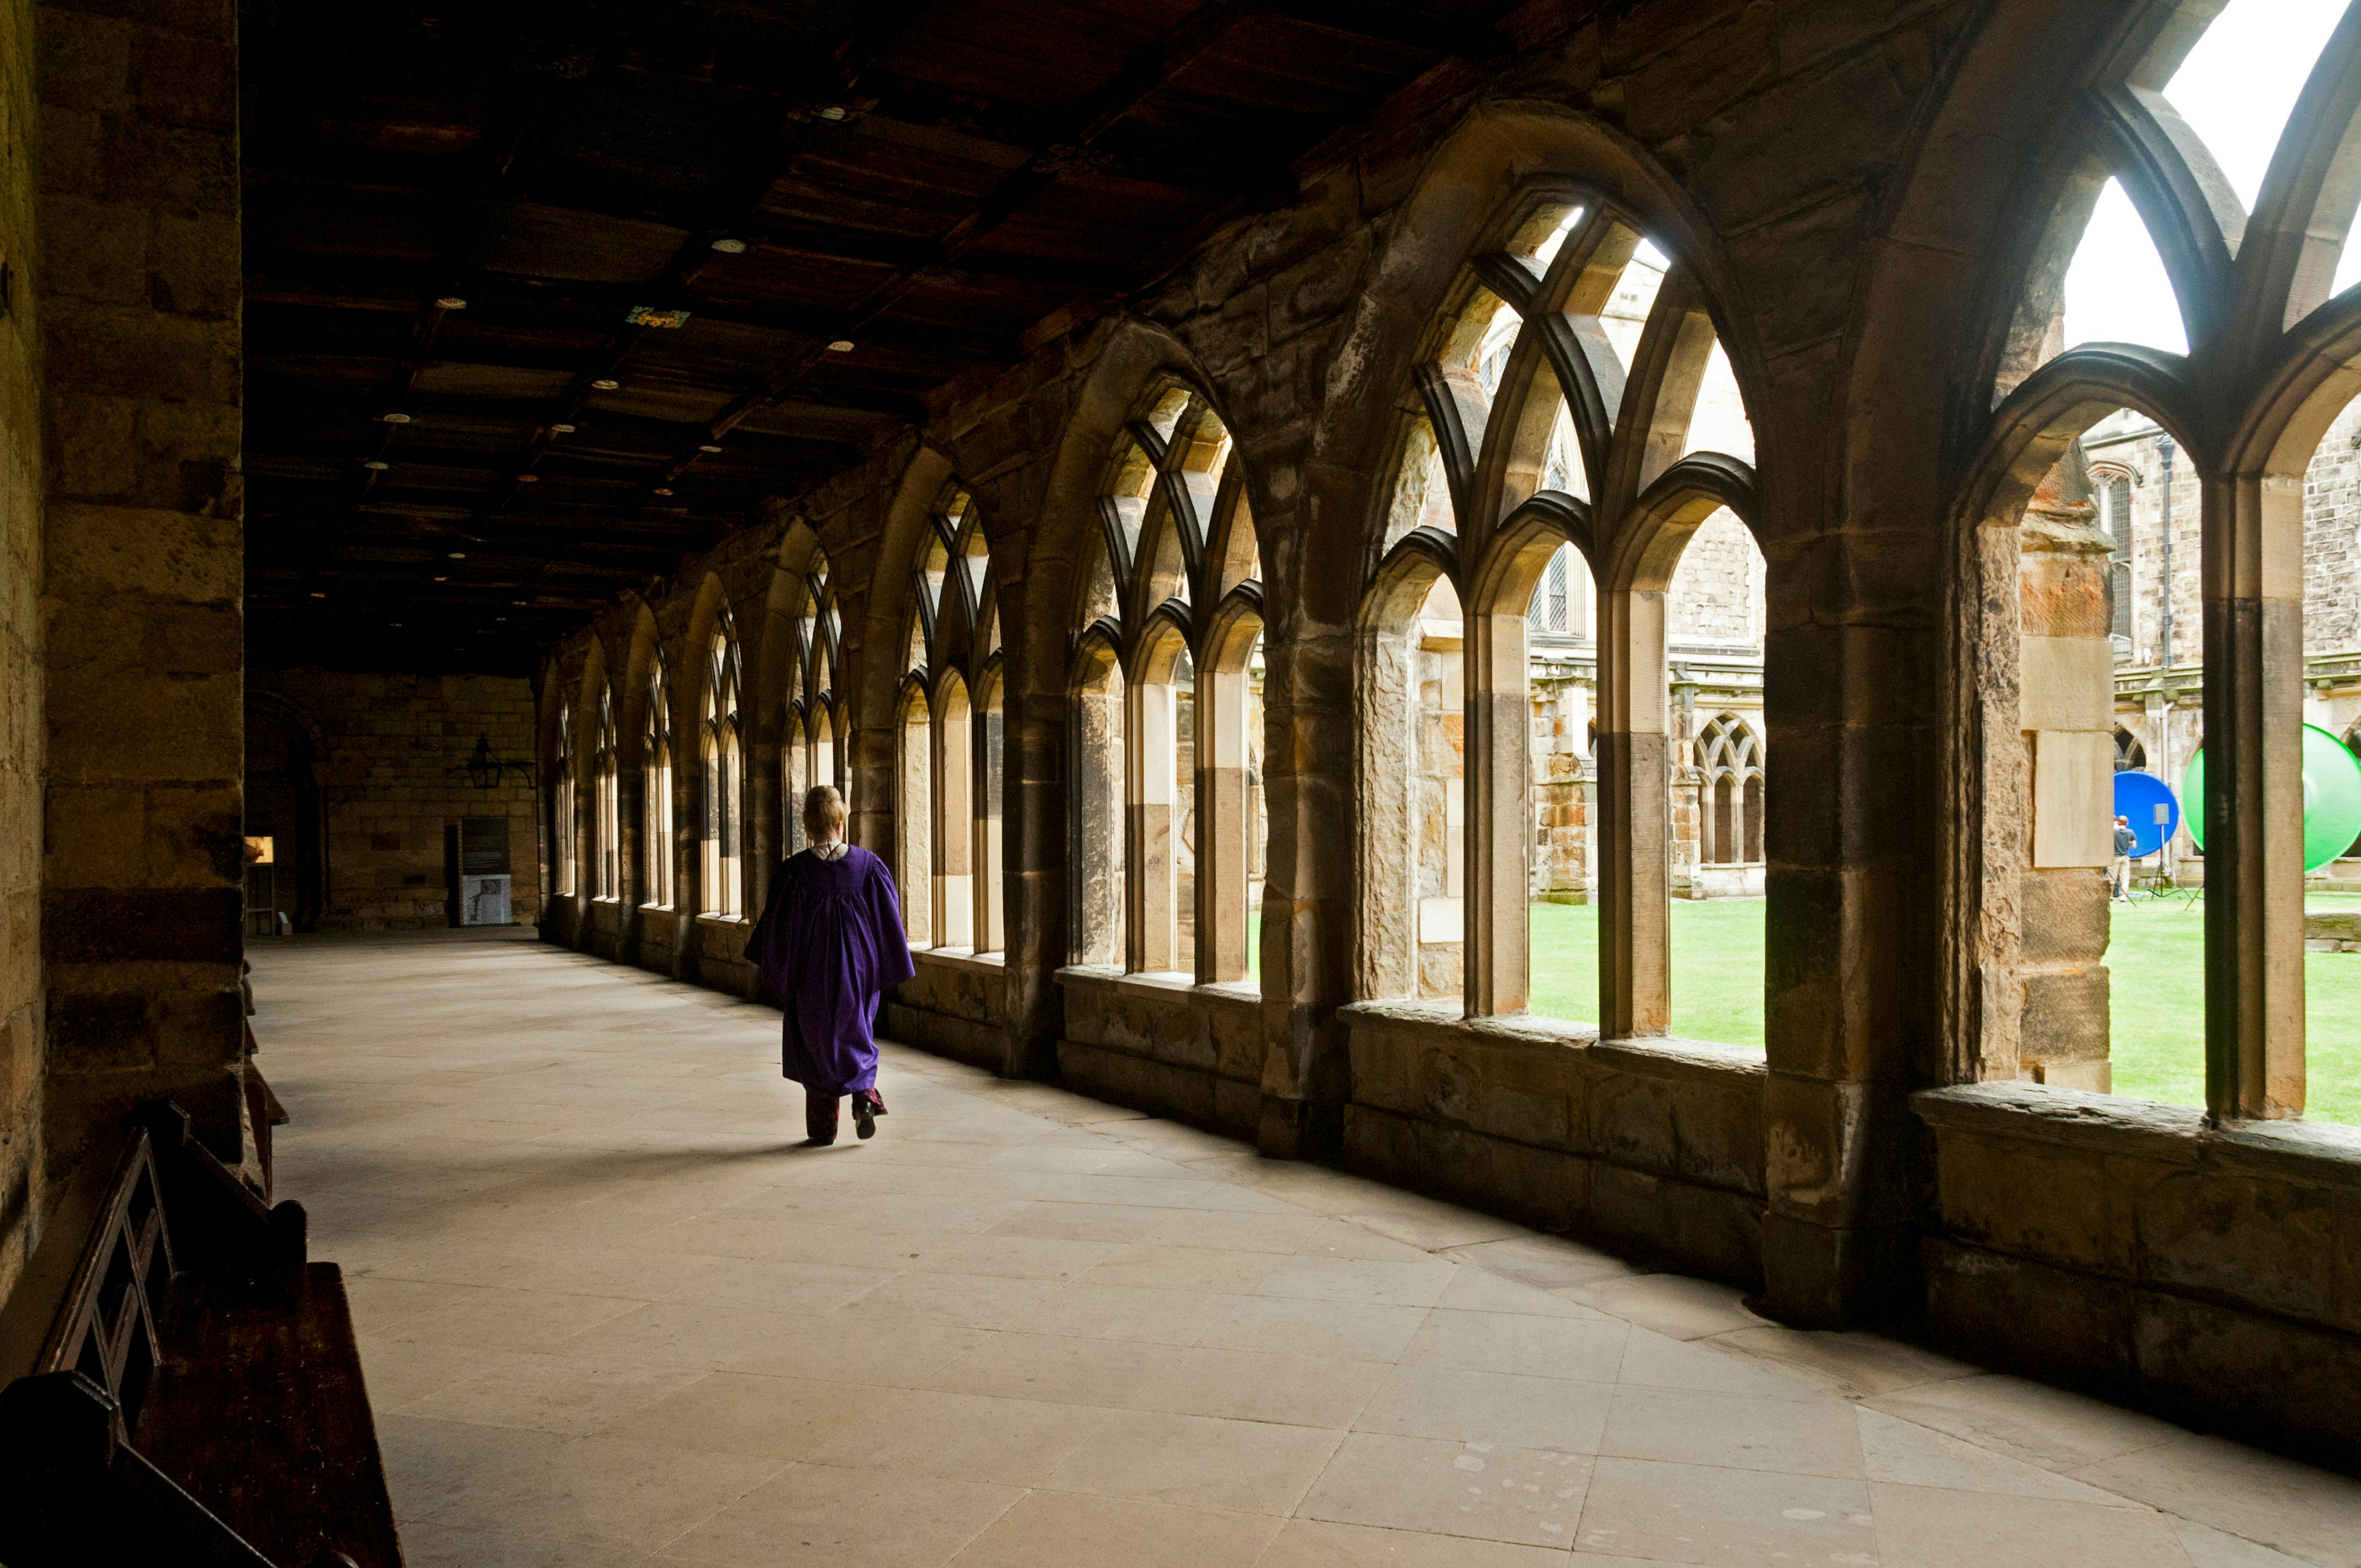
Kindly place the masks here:
POLYGON ((255 945, 413 1568, 2285 1568, 2361 1483, 498 935, 255 945))

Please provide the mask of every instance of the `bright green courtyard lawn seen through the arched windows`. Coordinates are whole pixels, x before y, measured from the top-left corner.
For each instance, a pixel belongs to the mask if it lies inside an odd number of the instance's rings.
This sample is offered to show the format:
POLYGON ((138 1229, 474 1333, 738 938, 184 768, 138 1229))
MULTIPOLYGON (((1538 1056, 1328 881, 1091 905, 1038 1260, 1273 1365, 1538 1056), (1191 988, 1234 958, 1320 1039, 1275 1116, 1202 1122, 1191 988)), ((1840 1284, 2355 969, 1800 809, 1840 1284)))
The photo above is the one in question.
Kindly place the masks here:
MULTIPOLYGON (((2321 897, 2314 907, 2361 907, 2321 897)), ((2205 904, 2115 904, 2106 956, 2113 994, 2115 1093, 2205 1103, 2205 904)), ((1731 1046, 1764 1044, 1764 900, 1676 900, 1672 1032, 1731 1046)), ((1532 907, 1532 1011, 1598 1015, 1598 909, 1532 907)), ((2361 954, 2304 954, 2304 1115, 2361 1126, 2361 954)))

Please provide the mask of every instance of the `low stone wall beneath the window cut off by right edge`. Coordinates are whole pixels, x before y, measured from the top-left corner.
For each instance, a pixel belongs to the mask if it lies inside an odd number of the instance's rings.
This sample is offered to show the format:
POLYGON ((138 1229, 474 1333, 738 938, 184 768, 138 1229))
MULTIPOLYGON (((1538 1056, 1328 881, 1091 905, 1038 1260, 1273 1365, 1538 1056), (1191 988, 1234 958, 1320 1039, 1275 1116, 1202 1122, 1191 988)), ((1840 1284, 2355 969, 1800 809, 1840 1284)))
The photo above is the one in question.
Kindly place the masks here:
POLYGON ((1936 1143, 1927 1315, 2007 1367, 2361 1462, 2361 1131, 1976 1084, 1936 1143), (2234 1393, 2231 1393, 2234 1391, 2234 1393))

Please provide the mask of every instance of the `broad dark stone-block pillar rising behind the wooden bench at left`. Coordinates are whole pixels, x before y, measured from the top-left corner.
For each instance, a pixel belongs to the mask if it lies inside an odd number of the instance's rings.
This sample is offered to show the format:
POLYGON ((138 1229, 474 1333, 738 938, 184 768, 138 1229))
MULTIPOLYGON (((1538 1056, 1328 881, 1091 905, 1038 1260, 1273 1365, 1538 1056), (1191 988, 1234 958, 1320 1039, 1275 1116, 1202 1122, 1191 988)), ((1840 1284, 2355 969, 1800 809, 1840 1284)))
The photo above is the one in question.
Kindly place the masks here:
POLYGON ((52 1171, 163 1096, 250 1148, 234 17, 38 7, 52 1171))

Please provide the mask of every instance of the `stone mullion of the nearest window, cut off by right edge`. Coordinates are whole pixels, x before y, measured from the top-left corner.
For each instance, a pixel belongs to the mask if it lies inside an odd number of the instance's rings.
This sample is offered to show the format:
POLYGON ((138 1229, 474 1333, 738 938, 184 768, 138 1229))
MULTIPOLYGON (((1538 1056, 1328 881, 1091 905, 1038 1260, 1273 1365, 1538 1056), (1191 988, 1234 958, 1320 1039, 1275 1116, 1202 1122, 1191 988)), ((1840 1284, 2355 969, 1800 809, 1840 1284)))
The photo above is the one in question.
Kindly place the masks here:
POLYGON ((2304 472, 2208 477, 2205 1105, 2304 1110, 2304 472))

